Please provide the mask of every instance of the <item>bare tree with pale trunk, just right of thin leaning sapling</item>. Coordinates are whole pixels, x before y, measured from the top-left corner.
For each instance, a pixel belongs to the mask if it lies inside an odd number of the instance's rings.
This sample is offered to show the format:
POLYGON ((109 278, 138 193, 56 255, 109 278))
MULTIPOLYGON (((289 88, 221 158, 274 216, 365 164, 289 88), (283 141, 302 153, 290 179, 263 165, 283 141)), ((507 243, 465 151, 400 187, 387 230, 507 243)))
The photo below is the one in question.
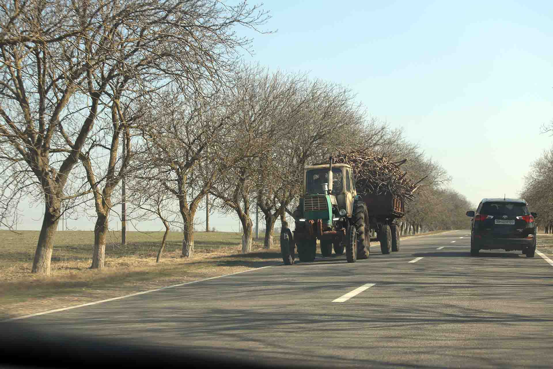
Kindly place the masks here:
POLYGON ((202 105, 176 90, 165 91, 160 101, 151 117, 153 123, 142 128, 148 154, 137 160, 143 169, 132 175, 136 180, 155 180, 156 188, 178 201, 184 230, 181 256, 191 257, 196 211, 228 165, 213 158, 231 158, 232 164, 232 155, 226 155, 222 147, 228 147, 233 126, 221 101, 211 99, 202 105))

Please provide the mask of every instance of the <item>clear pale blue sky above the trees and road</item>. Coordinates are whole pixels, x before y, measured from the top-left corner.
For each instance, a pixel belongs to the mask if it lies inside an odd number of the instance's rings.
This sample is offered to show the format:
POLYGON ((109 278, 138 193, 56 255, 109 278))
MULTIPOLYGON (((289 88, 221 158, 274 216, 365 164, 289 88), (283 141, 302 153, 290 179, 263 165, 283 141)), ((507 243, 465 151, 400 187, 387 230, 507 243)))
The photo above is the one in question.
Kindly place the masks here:
MULTIPOLYGON (((529 165, 553 143, 540 134, 553 119, 553 2, 271 1, 263 8, 272 19, 261 29, 278 32, 237 29, 254 38, 247 60, 350 87, 369 115, 403 127, 469 201, 518 197, 529 165)), ((201 212, 197 221, 204 219, 201 212)), ((218 230, 236 231, 237 222, 210 219, 218 230)), ((40 226, 32 224, 23 228, 40 226)))

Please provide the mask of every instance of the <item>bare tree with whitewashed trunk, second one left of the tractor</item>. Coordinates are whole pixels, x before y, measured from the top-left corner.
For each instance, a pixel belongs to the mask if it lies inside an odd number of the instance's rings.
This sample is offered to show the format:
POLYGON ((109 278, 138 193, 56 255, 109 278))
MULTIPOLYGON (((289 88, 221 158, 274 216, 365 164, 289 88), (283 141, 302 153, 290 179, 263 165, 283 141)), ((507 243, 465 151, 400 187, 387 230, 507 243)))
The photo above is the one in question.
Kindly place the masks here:
MULTIPOLYGON (((242 252, 247 253, 252 250, 250 208, 263 193, 259 186, 275 180, 268 174, 278 170, 273 158, 278 155, 275 149, 278 150, 285 137, 282 128, 286 127, 283 125, 286 119, 281 112, 298 97, 301 79, 282 72, 269 73, 259 66, 246 66, 238 72, 236 81, 231 101, 236 129, 225 153, 232 150, 237 161, 218 178, 211 193, 221 200, 223 211, 237 213, 244 230, 242 252)), ((274 196, 270 201, 274 202, 274 196)), ((274 225, 265 203, 258 201, 258 204, 265 220, 274 225)), ((265 232, 265 240, 272 228, 265 232)))

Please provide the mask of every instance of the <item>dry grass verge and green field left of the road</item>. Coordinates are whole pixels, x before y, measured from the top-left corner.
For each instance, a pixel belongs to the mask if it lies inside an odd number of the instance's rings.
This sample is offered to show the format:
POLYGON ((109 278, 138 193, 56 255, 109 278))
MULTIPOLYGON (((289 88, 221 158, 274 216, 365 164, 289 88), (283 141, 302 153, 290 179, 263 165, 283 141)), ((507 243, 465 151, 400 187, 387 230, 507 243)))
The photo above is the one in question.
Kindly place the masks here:
POLYGON ((39 231, 20 233, 0 231, 0 319, 281 262, 280 248, 264 250, 262 238, 252 253, 241 254, 241 235, 232 232, 197 232, 194 256, 180 258, 182 233, 170 232, 155 263, 163 233, 128 232, 126 246, 118 234, 109 235, 106 268, 89 269, 93 233, 58 231, 51 275, 36 276, 30 271, 39 231))

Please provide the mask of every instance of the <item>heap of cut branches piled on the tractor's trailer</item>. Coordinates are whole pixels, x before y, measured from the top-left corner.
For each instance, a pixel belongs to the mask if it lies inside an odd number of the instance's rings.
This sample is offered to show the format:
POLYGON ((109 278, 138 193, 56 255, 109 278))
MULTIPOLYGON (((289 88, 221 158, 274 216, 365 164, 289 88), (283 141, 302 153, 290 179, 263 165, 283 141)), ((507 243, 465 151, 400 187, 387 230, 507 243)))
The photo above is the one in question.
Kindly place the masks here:
POLYGON ((377 195, 391 193, 402 200, 413 200, 419 189, 418 184, 424 178, 413 183, 407 172, 399 168, 406 161, 407 159, 404 159, 401 162, 392 163, 387 157, 363 149, 348 152, 338 150, 334 157, 335 163, 351 165, 358 193, 377 195))

